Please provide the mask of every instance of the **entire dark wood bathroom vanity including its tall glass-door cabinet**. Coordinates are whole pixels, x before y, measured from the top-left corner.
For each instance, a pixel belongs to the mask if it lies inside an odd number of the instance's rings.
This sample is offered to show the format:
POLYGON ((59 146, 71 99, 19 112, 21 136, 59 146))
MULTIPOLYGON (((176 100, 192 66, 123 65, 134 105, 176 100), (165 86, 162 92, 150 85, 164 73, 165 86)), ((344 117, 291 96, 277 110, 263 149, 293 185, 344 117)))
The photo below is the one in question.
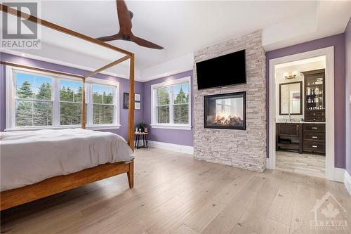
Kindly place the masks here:
POLYGON ((277 123, 277 150, 325 154, 325 70, 301 73, 304 76, 304 122, 277 123))

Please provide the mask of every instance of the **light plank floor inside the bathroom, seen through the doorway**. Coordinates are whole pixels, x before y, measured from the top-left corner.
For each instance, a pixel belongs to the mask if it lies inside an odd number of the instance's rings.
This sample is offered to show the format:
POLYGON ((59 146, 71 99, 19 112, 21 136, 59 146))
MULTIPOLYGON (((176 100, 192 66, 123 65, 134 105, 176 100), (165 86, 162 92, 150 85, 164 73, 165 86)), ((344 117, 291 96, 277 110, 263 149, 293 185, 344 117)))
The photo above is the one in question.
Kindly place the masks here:
POLYGON ((279 150, 276 152, 276 159, 276 168, 278 169, 325 178, 326 157, 324 155, 299 154, 298 152, 279 150))

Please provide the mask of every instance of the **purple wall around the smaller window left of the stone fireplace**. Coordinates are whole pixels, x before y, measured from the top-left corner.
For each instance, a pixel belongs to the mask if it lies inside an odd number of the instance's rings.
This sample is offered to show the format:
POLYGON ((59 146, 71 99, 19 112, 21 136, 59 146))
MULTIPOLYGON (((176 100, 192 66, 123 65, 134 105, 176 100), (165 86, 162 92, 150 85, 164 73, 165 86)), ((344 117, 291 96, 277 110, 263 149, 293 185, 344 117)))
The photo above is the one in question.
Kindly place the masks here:
MULTIPOLYGON (((166 82, 168 80, 180 79, 183 77, 192 77, 192 70, 188 72, 182 72, 179 74, 174 74, 169 77, 163 77, 159 79, 153 79, 150 82, 144 83, 144 122, 147 124, 151 123, 151 85, 161 82, 166 82)), ((192 78, 191 78, 192 81, 192 78)), ((192 124, 194 122, 193 115, 193 104, 194 104, 194 95, 192 92, 192 124)), ((193 130, 178 130, 178 129, 152 129, 150 127, 150 141, 161 141, 165 143, 173 143, 178 145, 189 145, 192 146, 193 139, 193 130)))

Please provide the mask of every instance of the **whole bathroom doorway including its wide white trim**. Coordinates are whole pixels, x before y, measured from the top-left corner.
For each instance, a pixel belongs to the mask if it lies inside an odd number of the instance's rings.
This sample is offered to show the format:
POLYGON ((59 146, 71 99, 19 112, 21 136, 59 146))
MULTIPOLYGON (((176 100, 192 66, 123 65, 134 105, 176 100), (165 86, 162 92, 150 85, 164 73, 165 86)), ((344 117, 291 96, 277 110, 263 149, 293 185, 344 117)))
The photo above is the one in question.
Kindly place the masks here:
POLYGON ((274 58, 269 78, 267 169, 286 167, 294 173, 335 180, 333 46, 274 58))

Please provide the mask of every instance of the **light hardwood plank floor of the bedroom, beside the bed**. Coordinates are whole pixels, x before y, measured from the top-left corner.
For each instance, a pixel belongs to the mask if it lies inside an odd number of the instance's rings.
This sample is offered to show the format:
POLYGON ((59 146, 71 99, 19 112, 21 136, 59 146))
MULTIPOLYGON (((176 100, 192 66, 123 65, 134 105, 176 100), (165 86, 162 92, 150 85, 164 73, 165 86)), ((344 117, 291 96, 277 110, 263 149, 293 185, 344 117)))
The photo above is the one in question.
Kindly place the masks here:
POLYGON ((343 183, 264 173, 194 160, 159 149, 135 152, 135 185, 126 175, 1 212, 6 233, 350 233, 311 230, 316 199, 330 192, 351 214, 343 183))

